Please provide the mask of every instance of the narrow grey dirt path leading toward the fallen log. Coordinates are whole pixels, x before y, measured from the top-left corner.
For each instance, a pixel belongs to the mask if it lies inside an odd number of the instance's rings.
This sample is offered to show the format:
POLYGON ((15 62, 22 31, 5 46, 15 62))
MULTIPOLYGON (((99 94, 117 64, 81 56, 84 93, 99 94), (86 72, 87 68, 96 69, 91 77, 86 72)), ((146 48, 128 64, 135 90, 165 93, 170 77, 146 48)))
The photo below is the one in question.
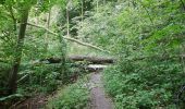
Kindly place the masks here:
POLYGON ((113 109, 110 98, 104 93, 101 73, 92 73, 90 83, 91 109, 113 109))

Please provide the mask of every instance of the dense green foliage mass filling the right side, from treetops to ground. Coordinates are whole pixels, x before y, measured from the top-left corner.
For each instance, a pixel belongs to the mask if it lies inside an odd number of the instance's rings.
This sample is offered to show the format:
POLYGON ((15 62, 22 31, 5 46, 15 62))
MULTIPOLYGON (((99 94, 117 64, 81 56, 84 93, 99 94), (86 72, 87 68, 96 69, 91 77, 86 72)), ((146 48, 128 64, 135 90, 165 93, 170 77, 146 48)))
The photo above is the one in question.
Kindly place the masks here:
POLYGON ((184 84, 182 1, 125 0, 98 10, 78 23, 78 37, 118 57, 116 65, 104 71, 118 108, 175 108, 184 84))

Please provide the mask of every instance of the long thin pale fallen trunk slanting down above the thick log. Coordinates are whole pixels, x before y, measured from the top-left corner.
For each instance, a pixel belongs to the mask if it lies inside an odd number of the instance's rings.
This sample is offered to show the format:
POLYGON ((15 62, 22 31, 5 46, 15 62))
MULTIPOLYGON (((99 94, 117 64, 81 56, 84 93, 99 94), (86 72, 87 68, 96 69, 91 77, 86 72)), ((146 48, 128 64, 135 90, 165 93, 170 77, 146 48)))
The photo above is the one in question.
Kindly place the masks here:
MULTIPOLYGON (((45 31, 47 31, 49 34, 52 34, 54 36, 59 36, 59 34, 54 33, 54 32, 51 32, 50 29, 44 27, 44 26, 40 26, 40 25, 35 25, 35 24, 32 24, 32 23, 27 23, 27 25, 30 25, 30 26, 34 26, 34 27, 38 27, 38 28, 42 28, 45 31)), ((97 50, 100 50, 100 51, 103 51, 103 52, 108 52, 110 53, 110 51, 107 51, 107 50, 103 50, 102 48, 99 48, 97 46, 94 46, 94 45, 90 45, 90 44, 87 44, 87 43, 83 43, 78 39, 75 39, 75 38, 71 38, 71 37, 66 37, 66 36, 62 36, 64 39, 67 39, 70 41, 74 41, 76 44, 79 44, 82 46, 86 46, 86 47, 90 47, 90 48, 94 48, 94 49, 97 49, 97 50)))

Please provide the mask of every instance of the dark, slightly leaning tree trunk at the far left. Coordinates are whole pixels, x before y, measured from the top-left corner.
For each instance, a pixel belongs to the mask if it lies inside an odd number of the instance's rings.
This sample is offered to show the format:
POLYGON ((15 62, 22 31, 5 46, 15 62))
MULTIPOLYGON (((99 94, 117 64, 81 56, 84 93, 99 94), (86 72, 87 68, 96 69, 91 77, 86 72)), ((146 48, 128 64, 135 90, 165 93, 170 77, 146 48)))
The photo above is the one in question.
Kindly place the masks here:
POLYGON ((24 10, 21 13, 20 32, 18 32, 17 44, 16 44, 16 49, 14 55, 14 62, 9 77, 9 94, 15 93, 17 88, 16 81, 17 81, 17 73, 18 73, 18 68, 22 59, 27 19, 28 19, 28 9, 24 10))

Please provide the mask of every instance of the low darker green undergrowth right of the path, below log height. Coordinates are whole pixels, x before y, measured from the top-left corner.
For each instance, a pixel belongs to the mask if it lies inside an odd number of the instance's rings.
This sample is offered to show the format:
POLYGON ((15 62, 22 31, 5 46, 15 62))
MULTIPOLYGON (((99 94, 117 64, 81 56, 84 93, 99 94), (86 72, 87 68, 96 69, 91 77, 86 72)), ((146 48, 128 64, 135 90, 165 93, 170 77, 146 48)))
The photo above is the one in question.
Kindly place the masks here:
POLYGON ((128 64, 103 72, 104 87, 113 97, 115 109, 176 109, 176 95, 184 83, 180 64, 128 64))

